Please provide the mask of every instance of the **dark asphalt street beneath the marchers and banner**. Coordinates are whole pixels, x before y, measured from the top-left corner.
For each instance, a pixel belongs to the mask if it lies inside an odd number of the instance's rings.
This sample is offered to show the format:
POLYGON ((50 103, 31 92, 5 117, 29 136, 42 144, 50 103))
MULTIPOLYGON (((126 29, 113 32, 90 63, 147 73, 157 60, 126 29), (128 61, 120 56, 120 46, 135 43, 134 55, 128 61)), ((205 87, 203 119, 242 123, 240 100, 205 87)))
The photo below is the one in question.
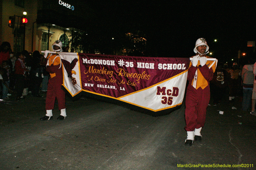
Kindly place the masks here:
POLYGON ((0 103, 1 170, 256 167, 256 116, 241 111, 239 97, 231 103, 223 99, 217 106, 210 101, 202 142, 189 147, 184 145, 185 102, 169 115, 152 117, 85 96, 75 101, 67 97, 65 120, 57 120, 60 111, 55 104, 53 120, 40 121, 46 93, 40 94, 42 98, 28 95, 20 101, 13 94, 0 103))

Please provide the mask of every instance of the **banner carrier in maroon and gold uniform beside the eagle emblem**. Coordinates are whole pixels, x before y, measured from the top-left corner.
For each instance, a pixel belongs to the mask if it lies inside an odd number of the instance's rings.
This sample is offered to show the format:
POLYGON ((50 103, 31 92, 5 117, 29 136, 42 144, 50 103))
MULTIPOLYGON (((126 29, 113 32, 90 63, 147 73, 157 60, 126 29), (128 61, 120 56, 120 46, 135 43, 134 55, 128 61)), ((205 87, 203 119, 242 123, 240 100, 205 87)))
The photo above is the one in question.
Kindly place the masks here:
MULTIPOLYGON (((52 44, 53 51, 62 52, 62 43, 57 40, 52 44)), ((46 115, 41 117, 40 120, 52 120, 52 110, 54 109, 55 98, 58 100, 58 106, 60 110, 60 116, 58 120, 64 120, 66 118, 66 106, 65 106, 65 92, 61 89, 63 81, 62 63, 58 54, 49 54, 49 51, 44 52, 44 57, 47 60, 46 71, 50 73, 48 81, 48 88, 46 93, 45 109, 46 115)))

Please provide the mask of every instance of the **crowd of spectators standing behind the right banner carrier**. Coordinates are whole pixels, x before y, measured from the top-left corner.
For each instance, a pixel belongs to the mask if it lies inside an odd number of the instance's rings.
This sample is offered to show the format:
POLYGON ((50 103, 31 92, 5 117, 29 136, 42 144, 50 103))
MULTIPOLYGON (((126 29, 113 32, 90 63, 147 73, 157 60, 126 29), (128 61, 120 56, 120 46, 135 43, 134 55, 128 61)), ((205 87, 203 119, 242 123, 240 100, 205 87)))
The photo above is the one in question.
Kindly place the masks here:
POLYGON ((214 77, 210 82, 211 98, 213 106, 221 103, 221 100, 234 102, 235 98, 241 103, 242 110, 256 115, 253 101, 253 82, 255 82, 256 63, 253 57, 244 58, 244 64, 234 62, 218 62, 214 77), (254 72, 253 72, 254 70, 254 72))

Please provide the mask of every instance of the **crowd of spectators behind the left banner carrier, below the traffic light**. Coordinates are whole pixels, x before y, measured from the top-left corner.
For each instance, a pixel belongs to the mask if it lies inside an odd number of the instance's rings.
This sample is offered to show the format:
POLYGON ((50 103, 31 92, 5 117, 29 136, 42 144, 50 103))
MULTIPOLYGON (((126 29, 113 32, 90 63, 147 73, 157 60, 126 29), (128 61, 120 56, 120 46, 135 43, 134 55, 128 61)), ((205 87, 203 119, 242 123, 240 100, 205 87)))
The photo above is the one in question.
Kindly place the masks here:
POLYGON ((14 54, 9 42, 0 46, 0 99, 8 100, 16 94, 16 100, 31 93, 41 97, 40 89, 47 91, 48 72, 45 71, 45 58, 39 51, 27 50, 14 54), (42 88, 41 88, 42 86, 42 88))

